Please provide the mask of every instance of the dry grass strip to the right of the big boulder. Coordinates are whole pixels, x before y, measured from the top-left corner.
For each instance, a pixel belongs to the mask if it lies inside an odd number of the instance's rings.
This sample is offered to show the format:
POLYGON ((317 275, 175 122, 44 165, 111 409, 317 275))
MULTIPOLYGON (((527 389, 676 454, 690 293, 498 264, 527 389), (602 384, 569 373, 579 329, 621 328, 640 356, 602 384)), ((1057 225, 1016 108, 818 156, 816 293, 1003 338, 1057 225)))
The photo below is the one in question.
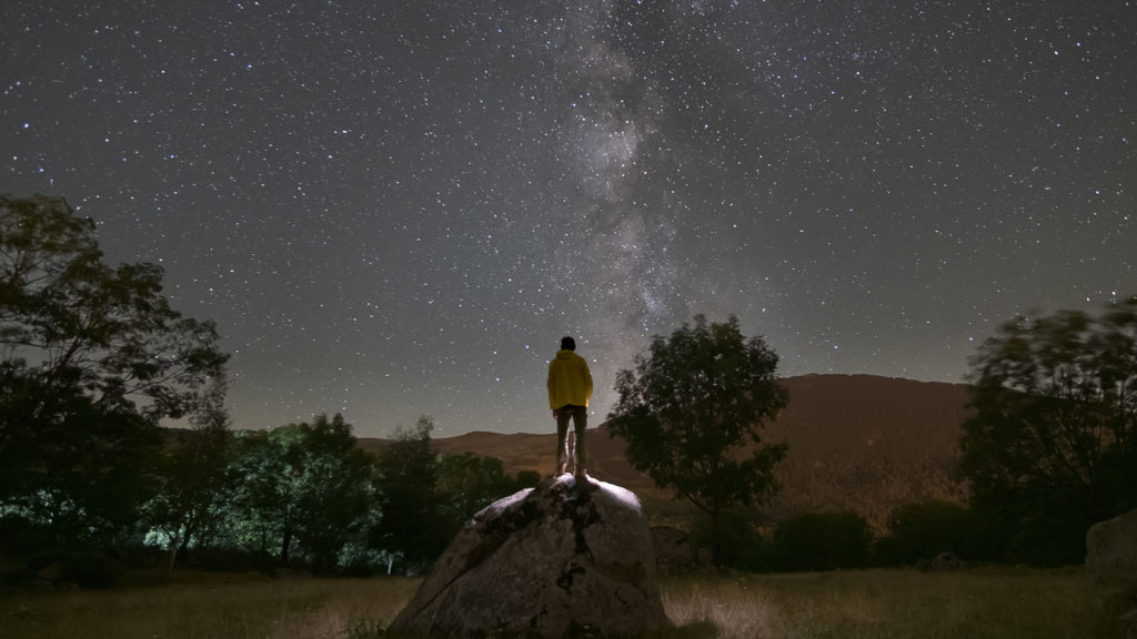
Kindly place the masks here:
POLYGON ((1080 570, 856 571, 664 583, 677 623, 723 639, 1107 637, 1080 570))

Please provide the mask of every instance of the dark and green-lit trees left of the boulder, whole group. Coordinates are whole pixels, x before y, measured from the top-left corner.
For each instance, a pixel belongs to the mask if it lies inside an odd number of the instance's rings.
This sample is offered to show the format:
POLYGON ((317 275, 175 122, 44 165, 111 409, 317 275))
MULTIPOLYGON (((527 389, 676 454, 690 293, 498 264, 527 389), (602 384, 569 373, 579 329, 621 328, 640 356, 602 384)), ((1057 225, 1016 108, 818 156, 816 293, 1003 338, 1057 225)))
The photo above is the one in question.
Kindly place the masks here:
POLYGON ((434 455, 429 418, 376 457, 340 415, 232 431, 216 326, 173 309, 161 277, 105 264, 64 199, 0 194, 0 569, 15 579, 50 566, 105 584, 153 549, 166 570, 415 570, 536 483, 434 455))

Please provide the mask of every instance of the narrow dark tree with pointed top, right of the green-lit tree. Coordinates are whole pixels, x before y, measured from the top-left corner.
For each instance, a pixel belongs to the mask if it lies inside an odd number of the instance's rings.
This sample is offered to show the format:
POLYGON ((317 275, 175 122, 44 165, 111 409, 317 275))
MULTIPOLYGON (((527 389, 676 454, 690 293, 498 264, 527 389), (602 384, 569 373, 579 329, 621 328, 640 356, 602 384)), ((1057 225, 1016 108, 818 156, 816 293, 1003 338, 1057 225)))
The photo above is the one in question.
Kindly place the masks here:
POLYGON ((446 524, 439 493, 440 459, 431 448, 434 422, 422 416, 414 430, 401 426, 379 456, 382 481, 380 521, 372 545, 401 557, 405 569, 420 570, 446 548, 446 524))

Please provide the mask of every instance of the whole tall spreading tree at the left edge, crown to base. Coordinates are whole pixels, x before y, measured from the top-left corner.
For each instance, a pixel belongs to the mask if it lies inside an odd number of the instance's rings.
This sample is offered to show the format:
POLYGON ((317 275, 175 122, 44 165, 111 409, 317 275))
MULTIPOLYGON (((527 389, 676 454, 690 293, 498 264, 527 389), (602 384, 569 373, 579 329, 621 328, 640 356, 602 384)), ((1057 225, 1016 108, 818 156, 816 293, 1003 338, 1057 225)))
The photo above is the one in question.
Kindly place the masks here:
POLYGON ((93 232, 60 198, 0 196, 0 505, 70 541, 133 523, 158 420, 227 359, 161 268, 107 266, 93 232))

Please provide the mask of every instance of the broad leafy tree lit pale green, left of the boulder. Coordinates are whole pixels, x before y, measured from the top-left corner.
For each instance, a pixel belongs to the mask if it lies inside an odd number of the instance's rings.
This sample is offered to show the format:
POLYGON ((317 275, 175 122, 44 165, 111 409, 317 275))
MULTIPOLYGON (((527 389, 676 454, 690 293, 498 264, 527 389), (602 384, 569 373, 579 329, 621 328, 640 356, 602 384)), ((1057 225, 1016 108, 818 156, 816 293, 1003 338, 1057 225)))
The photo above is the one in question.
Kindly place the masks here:
POLYGON ((317 415, 312 424, 238 434, 230 481, 239 543, 275 551, 281 563, 297 550, 317 570, 334 566, 372 504, 371 459, 350 424, 317 415))

